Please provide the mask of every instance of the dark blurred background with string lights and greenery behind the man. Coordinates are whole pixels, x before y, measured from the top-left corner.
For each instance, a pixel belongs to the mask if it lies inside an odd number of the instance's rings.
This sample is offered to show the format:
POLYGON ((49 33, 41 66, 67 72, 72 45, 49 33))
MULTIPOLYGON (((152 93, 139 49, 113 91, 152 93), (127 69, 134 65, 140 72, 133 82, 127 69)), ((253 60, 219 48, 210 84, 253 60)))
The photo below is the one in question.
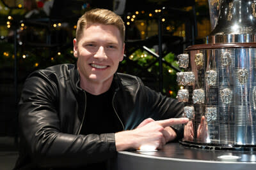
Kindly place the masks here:
POLYGON ((211 32, 207 0, 0 0, 0 169, 12 169, 17 158, 17 103, 26 76, 76 62, 76 23, 92 8, 115 11, 125 22, 118 72, 173 98, 182 89, 177 55, 211 32))

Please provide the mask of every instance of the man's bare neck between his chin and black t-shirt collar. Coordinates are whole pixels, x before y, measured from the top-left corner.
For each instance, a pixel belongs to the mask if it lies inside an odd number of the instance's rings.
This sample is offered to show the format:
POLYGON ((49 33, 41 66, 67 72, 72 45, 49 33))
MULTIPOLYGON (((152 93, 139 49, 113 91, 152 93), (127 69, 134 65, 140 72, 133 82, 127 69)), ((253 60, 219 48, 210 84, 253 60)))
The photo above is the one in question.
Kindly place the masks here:
POLYGON ((86 80, 80 76, 80 87, 86 92, 93 95, 100 95, 109 90, 113 77, 103 82, 94 82, 92 80, 86 80))

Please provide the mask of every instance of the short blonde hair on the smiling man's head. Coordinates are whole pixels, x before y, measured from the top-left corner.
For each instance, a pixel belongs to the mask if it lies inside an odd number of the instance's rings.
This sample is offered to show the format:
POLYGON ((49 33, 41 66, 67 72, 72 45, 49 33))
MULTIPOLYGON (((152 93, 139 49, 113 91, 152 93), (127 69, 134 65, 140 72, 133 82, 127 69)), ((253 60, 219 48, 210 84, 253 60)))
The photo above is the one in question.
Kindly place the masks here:
POLYGON ((79 18, 77 22, 76 29, 76 39, 83 34, 83 29, 90 24, 104 24, 104 25, 114 25, 118 28, 122 41, 125 38, 125 25, 124 21, 119 15, 116 15, 113 11, 96 8, 90 11, 86 11, 82 17, 79 18))

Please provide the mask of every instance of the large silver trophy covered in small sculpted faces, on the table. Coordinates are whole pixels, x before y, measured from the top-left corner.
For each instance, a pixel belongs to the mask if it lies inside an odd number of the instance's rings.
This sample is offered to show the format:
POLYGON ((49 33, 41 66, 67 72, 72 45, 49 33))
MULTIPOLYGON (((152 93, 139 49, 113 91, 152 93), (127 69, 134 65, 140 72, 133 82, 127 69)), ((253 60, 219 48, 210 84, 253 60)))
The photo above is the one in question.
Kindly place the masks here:
POLYGON ((256 1, 209 0, 206 43, 178 55, 185 146, 256 150, 256 1))

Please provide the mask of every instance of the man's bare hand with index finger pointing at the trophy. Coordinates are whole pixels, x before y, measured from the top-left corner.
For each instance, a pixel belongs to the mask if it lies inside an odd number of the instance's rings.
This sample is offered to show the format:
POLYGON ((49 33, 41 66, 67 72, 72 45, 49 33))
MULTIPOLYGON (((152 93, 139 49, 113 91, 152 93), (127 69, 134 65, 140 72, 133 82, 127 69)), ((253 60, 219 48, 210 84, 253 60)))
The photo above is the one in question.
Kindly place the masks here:
POLYGON ((127 150, 128 148, 140 149, 143 145, 162 148, 166 142, 176 136, 170 127, 175 124, 185 124, 188 118, 169 118, 166 120, 154 121, 146 119, 132 131, 123 131, 115 134, 116 150, 127 150))

